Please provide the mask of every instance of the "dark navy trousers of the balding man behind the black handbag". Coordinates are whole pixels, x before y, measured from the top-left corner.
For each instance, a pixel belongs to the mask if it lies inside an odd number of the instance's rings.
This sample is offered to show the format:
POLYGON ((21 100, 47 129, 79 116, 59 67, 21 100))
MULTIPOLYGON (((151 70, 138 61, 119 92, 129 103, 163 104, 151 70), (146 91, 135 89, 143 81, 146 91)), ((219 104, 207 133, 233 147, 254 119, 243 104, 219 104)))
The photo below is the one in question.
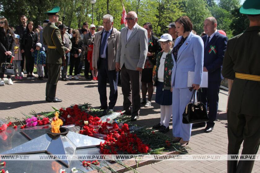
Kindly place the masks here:
POLYGON ((201 88, 202 93, 200 93, 201 96, 201 102, 205 104, 207 108, 207 104, 209 104, 209 121, 207 122, 207 125, 210 127, 214 126, 214 121, 217 117, 217 112, 219 108, 219 87, 220 87, 221 81, 217 82, 209 82, 208 88, 201 88))

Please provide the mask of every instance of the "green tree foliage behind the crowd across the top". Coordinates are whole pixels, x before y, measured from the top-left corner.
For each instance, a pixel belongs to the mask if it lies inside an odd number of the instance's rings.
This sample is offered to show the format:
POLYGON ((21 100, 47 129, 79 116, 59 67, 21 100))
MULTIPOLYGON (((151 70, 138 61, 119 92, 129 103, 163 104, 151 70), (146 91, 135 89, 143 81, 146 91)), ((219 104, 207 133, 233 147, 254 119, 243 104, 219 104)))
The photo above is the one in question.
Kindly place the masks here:
MULTIPOLYGON (((120 29, 122 3, 127 12, 137 12, 140 26, 146 22, 152 23, 157 36, 167 33, 166 26, 183 15, 192 20, 193 29, 198 34, 203 31, 203 21, 214 16, 218 29, 224 30, 229 38, 243 32, 249 23, 246 16, 239 14, 240 0, 97 0, 93 5, 93 23, 102 25, 103 15, 111 14, 114 27, 120 29)), ((44 12, 54 6, 60 6, 59 14, 62 16, 64 5, 65 25, 80 28, 83 22, 92 23, 90 0, 1 0, 0 16, 5 16, 10 25, 16 26, 20 24, 19 16, 26 15, 28 21, 38 26, 48 19, 44 12)))

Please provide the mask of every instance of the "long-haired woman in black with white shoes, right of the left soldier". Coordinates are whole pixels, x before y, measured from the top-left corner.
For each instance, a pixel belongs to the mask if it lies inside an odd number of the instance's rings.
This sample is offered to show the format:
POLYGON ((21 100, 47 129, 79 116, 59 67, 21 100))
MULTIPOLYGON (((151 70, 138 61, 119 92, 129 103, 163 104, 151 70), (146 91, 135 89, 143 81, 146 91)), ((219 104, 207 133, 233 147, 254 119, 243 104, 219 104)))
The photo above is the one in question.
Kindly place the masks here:
POLYGON ((80 38, 80 32, 78 30, 72 31, 72 49, 71 49, 71 56, 70 56, 70 70, 69 70, 69 79, 72 79, 72 71, 74 69, 74 79, 79 79, 77 77, 78 67, 80 64, 80 56, 81 51, 83 50, 83 40, 80 38))

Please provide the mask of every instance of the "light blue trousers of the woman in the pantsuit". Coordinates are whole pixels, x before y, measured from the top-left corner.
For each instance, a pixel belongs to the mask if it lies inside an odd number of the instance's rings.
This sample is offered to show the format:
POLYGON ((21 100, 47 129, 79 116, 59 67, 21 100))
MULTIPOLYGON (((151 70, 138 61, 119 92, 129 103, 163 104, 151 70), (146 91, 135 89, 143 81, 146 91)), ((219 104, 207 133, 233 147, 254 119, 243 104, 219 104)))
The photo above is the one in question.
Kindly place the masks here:
POLYGON ((172 134, 174 137, 182 137, 183 141, 189 141, 192 124, 182 123, 182 114, 189 103, 192 92, 188 88, 172 90, 172 134))

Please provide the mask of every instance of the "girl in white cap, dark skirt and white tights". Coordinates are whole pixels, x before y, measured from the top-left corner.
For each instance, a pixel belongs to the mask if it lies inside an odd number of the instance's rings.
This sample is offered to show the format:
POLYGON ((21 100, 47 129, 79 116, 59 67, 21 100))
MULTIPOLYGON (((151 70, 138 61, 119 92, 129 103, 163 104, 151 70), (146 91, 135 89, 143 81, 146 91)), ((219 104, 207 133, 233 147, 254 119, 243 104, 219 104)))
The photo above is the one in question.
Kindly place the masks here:
POLYGON ((170 34, 163 34, 158 42, 160 42, 163 51, 157 54, 154 86, 156 86, 155 102, 161 105, 161 121, 159 124, 154 125, 153 129, 158 129, 159 132, 166 133, 169 131, 169 122, 172 114, 172 37, 170 34))

